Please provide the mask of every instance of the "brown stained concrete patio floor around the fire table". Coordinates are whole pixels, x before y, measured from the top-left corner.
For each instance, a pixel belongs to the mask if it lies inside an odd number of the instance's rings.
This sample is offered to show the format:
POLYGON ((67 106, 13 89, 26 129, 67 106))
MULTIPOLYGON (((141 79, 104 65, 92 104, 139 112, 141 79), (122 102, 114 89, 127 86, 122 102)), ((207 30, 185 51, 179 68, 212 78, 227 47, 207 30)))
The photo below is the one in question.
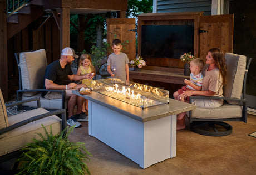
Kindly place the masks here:
MULTIPOLYGON (((96 174, 255 174, 256 116, 248 114, 248 122, 228 122, 233 133, 223 137, 199 135, 189 129, 177 131, 177 156, 142 169, 139 164, 88 135, 88 122, 75 128, 72 142, 84 142, 92 153, 87 164, 96 174)), ((157 151, 157 150, 156 150, 157 151)))

